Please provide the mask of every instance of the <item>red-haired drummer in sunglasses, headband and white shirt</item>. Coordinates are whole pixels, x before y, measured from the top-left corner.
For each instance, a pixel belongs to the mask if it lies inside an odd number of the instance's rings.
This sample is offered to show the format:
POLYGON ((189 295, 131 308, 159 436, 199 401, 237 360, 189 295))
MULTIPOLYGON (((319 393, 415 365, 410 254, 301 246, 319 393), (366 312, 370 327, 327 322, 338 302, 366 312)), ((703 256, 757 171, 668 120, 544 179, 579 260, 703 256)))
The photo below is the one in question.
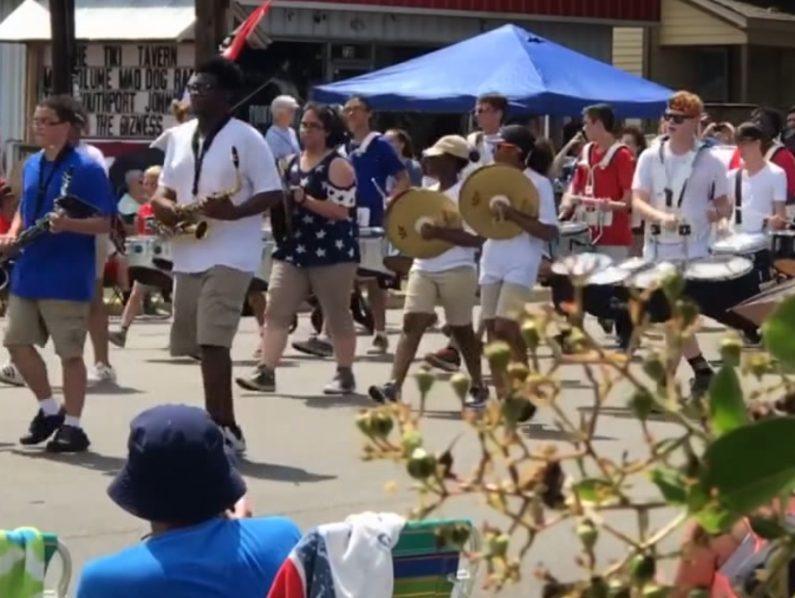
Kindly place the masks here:
MULTIPOLYGON (((697 141, 703 112, 704 104, 697 95, 687 91, 674 94, 663 117, 667 139, 638 159, 632 183, 633 206, 647 225, 658 224, 669 235, 682 222, 691 227, 686 240, 679 237, 665 243, 658 242, 647 227, 643 257, 649 261, 706 257, 712 223, 731 214, 726 168, 712 150, 697 141)), ((710 317, 719 311, 707 305, 700 307, 710 317)), ((693 393, 705 392, 713 371, 695 335, 685 340, 683 354, 695 375, 693 393)))

